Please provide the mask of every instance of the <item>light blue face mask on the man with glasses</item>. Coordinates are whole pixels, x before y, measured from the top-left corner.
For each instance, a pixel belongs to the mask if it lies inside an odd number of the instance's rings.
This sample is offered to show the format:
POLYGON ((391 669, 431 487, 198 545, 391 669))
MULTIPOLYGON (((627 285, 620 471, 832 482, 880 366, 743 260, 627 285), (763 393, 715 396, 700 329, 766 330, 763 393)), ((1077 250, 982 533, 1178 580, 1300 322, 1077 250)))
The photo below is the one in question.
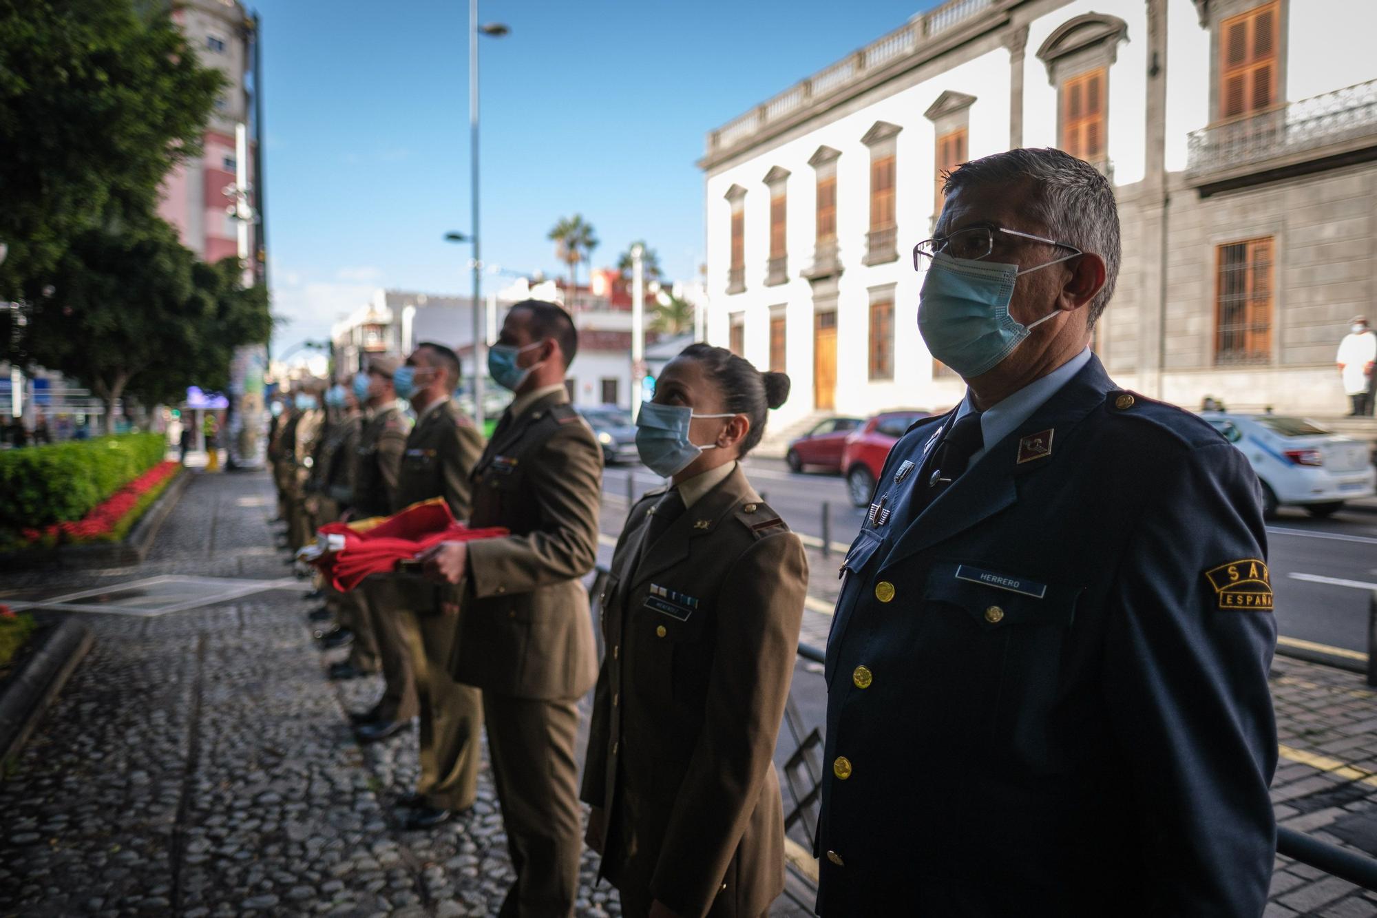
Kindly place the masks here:
POLYGON ((938 252, 918 294, 918 332, 928 350, 965 379, 993 369, 1034 328, 1056 316, 1048 313, 1029 325, 1009 316, 1013 281, 1048 265, 1020 272, 1018 265, 938 252))

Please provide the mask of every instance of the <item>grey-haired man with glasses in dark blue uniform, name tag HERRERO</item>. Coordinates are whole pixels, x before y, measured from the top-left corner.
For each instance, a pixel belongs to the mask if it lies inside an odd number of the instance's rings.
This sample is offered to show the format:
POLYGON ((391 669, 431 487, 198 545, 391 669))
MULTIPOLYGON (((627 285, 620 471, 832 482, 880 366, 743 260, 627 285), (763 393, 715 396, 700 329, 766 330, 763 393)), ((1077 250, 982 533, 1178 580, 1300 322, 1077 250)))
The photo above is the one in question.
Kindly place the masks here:
POLYGON ((918 325, 968 391, 895 444, 841 568, 818 911, 1256 918, 1257 480, 1091 353, 1120 262, 1099 172, 1012 150, 946 189, 918 325))

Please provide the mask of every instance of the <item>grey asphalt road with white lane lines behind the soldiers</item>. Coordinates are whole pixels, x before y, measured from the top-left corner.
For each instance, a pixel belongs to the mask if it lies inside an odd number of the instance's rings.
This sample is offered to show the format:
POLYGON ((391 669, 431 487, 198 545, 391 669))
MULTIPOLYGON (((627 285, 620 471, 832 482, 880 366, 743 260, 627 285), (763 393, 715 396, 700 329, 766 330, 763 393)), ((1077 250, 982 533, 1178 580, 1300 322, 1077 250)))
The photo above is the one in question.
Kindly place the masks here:
MULTIPOLYGON (((771 459, 750 459, 746 470, 796 532, 821 538, 823 506, 832 542, 847 544, 859 531, 862 511, 851 506, 840 476, 796 474, 771 459)), ((628 476, 638 496, 661 484, 640 466, 611 466, 603 489, 625 496, 628 476)), ((1267 532, 1282 635, 1366 652, 1369 601, 1377 590, 1377 500, 1351 504, 1327 520, 1282 507, 1267 532)))

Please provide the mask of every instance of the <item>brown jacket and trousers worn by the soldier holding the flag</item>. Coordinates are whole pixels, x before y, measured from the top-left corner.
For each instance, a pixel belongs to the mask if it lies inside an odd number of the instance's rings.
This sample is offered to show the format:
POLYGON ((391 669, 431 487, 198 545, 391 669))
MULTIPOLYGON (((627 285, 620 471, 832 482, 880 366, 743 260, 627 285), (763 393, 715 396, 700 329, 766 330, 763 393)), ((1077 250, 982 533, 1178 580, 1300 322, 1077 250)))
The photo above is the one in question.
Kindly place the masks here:
POLYGON ((578 699, 596 681, 588 591, 598 557, 602 449, 563 390, 503 415, 474 469, 452 670, 483 691, 487 751, 516 882, 503 918, 571 915, 581 812, 578 699))

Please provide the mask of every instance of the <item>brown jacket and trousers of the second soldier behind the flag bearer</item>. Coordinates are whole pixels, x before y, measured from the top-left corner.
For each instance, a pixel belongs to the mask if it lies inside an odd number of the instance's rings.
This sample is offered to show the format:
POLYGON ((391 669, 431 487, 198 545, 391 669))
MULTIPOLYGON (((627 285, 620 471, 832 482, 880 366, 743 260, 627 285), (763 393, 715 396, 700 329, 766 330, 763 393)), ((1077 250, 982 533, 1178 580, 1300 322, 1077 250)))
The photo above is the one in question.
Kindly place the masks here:
MULTIPOLYGON (((368 414, 354 456, 354 496, 350 506, 354 517, 386 517, 392 511, 409 430, 410 422, 402 414, 399 402, 381 405, 368 414)), ((391 583, 370 578, 354 594, 359 597, 359 612, 377 641, 377 663, 383 670, 383 695, 369 714, 388 724, 409 721, 416 717, 420 703, 416 699, 412 649, 402 629, 402 616, 388 611, 395 604, 391 583)))

